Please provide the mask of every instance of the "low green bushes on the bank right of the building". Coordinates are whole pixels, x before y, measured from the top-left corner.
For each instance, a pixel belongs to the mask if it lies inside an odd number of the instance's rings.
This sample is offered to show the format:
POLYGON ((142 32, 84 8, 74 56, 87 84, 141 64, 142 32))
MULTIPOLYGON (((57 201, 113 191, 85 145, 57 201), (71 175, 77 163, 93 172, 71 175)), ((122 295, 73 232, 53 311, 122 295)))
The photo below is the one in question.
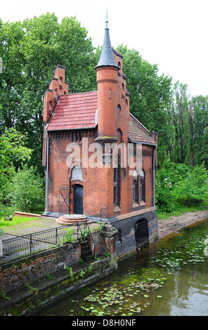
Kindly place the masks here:
POLYGON ((175 211, 178 206, 194 206, 207 201, 207 169, 174 164, 166 159, 155 175, 155 204, 160 211, 175 211))

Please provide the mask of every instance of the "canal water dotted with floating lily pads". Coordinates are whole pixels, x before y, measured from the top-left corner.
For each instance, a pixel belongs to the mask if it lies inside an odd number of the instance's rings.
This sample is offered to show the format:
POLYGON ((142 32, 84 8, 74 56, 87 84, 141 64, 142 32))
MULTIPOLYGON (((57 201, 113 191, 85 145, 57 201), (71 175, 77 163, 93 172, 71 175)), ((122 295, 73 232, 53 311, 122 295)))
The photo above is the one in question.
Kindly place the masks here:
POLYGON ((47 316, 207 316, 208 220, 119 263, 112 275, 39 313, 47 316))

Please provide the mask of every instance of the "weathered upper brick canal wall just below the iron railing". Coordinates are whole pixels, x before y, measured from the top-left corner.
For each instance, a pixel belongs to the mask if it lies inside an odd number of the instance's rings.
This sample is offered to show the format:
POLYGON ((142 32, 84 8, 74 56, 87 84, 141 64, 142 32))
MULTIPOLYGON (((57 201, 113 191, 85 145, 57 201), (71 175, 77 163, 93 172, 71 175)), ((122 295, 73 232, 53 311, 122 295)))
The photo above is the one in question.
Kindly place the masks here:
MULTIPOLYGON (((111 238, 115 241, 115 238, 111 238)), ((100 236, 100 232, 93 232, 96 256, 102 256, 109 250, 108 239, 100 236)), ((115 246, 115 244, 114 244, 115 246)), ((92 242, 91 242, 92 247, 92 242)), ((110 250, 115 253, 115 250, 110 250)), ((9 292, 24 287, 25 284, 43 279, 47 275, 53 275, 65 266, 72 267, 80 262, 82 258, 81 244, 75 241, 48 251, 34 253, 21 260, 13 260, 2 265, 0 268, 1 291, 9 292)))

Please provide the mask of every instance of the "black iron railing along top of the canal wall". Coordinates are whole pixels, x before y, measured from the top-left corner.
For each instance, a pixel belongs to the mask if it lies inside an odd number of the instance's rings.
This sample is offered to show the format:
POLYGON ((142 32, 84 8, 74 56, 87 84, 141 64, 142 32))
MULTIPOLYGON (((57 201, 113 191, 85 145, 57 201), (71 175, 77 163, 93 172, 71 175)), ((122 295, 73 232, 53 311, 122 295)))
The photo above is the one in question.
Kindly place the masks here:
POLYGON ((10 239, 0 236, 0 264, 83 238, 85 232, 91 233, 99 227, 100 223, 86 220, 10 239))

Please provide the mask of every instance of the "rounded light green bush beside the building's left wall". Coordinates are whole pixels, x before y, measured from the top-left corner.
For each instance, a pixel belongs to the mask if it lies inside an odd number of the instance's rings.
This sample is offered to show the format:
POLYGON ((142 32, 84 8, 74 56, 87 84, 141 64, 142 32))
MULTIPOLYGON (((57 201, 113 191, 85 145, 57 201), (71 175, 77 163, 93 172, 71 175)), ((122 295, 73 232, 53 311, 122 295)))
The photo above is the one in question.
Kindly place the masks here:
POLYGON ((34 212, 44 209, 44 179, 37 169, 22 165, 14 173, 13 180, 8 184, 8 197, 16 211, 34 212))

